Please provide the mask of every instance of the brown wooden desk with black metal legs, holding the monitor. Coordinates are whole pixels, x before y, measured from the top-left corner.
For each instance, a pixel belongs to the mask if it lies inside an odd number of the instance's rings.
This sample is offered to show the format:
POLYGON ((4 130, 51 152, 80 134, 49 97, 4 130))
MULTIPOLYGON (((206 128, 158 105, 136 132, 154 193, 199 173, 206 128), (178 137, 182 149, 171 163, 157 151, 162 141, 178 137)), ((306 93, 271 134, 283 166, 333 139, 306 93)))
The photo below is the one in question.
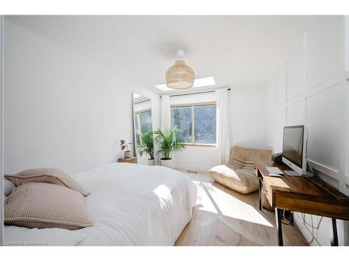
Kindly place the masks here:
POLYGON ((274 164, 272 161, 256 161, 257 175, 260 180, 260 210, 262 209, 262 185, 264 184, 270 205, 275 207, 276 228, 279 246, 283 246, 281 228, 281 211, 283 209, 327 216, 332 218, 332 246, 338 246, 336 219, 349 220, 349 198, 320 178, 289 176, 269 177, 265 167, 278 167, 290 170, 285 164, 274 164))

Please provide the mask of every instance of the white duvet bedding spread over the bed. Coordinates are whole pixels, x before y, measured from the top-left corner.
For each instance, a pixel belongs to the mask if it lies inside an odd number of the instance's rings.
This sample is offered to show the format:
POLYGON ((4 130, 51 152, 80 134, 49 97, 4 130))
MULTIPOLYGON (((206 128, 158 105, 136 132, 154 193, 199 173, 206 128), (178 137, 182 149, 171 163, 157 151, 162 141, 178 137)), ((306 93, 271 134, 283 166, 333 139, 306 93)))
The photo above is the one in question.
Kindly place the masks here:
POLYGON ((191 220, 197 189, 179 171, 114 163, 72 177, 91 192, 85 200, 94 226, 72 231, 5 226, 5 244, 173 246, 191 220))

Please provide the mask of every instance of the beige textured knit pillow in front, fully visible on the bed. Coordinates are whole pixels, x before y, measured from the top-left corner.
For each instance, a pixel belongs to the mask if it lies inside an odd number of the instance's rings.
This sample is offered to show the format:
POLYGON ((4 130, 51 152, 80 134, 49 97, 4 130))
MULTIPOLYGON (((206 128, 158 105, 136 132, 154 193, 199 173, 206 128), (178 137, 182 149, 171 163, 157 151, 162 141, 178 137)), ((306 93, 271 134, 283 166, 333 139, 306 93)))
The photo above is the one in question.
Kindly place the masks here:
POLYGON ((81 193, 49 183, 16 187, 6 198, 6 225, 75 230, 92 226, 81 193))

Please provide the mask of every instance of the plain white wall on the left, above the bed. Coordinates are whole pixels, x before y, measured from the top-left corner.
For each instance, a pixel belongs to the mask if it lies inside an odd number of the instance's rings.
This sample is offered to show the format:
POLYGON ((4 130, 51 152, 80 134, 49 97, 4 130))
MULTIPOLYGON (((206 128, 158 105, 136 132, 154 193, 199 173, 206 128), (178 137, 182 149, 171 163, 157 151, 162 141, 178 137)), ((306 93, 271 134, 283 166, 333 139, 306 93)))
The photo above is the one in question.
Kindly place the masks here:
POLYGON ((7 21, 5 39, 5 173, 117 161, 133 140, 132 91, 156 95, 7 21))

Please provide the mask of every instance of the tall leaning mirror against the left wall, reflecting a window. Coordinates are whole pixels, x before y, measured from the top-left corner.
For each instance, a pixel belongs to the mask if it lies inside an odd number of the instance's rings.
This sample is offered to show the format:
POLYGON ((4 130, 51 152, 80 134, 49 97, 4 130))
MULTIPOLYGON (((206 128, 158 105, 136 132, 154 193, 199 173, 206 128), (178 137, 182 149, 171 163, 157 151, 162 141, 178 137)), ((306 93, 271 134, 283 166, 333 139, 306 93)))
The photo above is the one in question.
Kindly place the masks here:
POLYGON ((138 93, 133 93, 133 132, 138 163, 153 166, 155 160, 151 100, 138 93))

